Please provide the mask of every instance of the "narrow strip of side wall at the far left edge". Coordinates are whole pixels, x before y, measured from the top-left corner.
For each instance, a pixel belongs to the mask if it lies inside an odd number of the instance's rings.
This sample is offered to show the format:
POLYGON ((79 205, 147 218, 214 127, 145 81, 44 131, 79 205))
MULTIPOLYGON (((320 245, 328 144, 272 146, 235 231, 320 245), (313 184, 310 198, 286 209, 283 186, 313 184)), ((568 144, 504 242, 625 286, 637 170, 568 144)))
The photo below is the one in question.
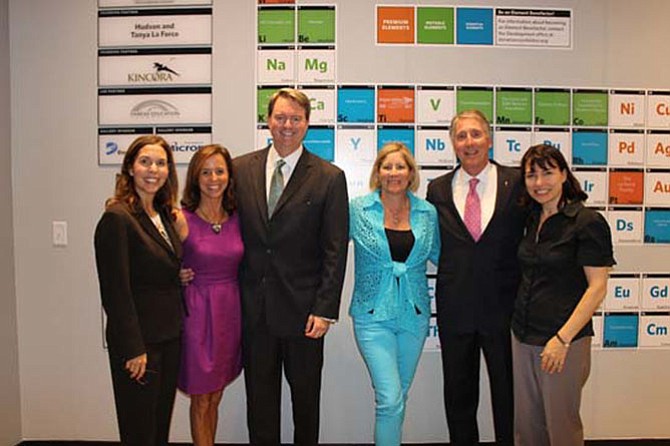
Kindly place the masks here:
POLYGON ((0 0, 0 444, 21 439, 19 357, 16 340, 14 232, 9 86, 9 2, 0 0))

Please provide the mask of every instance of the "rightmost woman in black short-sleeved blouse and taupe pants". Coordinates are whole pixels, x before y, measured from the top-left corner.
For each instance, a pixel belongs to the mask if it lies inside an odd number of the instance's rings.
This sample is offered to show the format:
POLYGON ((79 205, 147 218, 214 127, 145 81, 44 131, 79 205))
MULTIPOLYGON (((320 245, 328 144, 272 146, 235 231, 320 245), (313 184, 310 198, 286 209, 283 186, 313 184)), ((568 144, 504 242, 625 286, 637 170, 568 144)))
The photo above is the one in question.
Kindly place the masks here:
POLYGON ((587 195, 558 149, 531 147, 521 169, 531 212, 512 317, 516 444, 582 445, 591 316, 615 263, 612 236, 606 220, 584 207, 587 195))

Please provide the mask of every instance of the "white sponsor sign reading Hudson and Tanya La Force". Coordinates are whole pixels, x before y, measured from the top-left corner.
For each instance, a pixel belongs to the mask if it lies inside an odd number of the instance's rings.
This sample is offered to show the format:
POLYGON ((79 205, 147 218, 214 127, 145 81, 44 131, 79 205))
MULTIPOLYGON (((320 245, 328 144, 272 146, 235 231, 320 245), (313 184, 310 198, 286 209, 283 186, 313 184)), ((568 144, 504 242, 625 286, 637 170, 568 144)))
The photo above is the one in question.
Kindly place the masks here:
POLYGON ((98 11, 98 46, 211 45, 212 8, 98 11))

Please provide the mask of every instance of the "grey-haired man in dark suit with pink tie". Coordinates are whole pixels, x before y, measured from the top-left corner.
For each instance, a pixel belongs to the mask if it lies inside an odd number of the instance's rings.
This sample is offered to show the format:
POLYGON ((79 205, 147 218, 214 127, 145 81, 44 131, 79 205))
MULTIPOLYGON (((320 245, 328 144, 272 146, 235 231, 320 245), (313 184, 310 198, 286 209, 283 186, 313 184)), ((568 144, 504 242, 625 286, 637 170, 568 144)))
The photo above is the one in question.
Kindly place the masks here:
POLYGON ((489 161, 491 130, 481 112, 460 113, 449 135, 460 166, 431 181, 427 196, 437 208, 442 239, 436 300, 449 436, 452 445, 479 444, 482 351, 496 442, 512 445, 510 318, 524 225, 519 172, 489 161))

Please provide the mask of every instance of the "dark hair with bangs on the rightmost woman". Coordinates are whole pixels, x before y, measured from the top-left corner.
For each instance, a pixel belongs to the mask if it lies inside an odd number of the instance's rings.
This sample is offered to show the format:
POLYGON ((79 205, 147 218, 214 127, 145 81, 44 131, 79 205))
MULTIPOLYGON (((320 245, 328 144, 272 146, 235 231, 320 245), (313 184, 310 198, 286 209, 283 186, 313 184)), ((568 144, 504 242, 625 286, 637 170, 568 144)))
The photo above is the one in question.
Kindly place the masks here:
MULTIPOLYGON (((532 168, 534 166, 539 167, 540 169, 548 169, 549 167, 558 168, 561 172, 566 173, 566 180, 563 183, 563 192, 561 193, 561 199, 558 202, 558 208, 562 208, 567 203, 573 201, 586 201, 589 197, 586 192, 582 190, 582 186, 579 184, 579 180, 575 178, 570 167, 568 166, 565 157, 554 146, 548 144, 537 144, 530 147, 526 153, 524 153, 523 158, 521 158, 521 178, 525 178, 526 168, 532 168)), ((528 194, 528 189, 523 188, 523 193, 519 198, 519 201, 524 206, 529 206, 534 203, 534 200, 528 194)))

